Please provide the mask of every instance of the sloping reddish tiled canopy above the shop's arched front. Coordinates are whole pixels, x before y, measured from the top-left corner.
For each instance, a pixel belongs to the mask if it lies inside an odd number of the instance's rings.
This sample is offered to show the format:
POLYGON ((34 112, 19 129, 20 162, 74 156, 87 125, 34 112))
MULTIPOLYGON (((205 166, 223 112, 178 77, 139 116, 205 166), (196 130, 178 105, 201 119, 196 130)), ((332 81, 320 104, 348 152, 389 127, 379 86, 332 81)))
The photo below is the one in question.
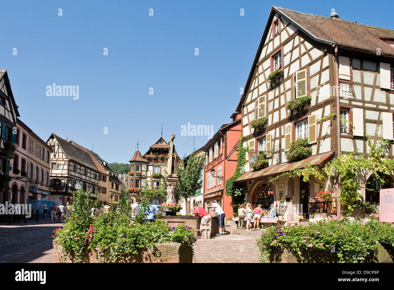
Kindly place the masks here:
POLYGON ((310 156, 308 158, 302 159, 296 162, 286 162, 283 164, 273 165, 258 171, 250 171, 243 174, 236 182, 242 182, 245 180, 252 180, 255 178, 260 178, 264 176, 272 176, 272 175, 279 175, 283 172, 289 171, 291 169, 299 169, 304 168, 307 164, 306 162, 310 163, 312 166, 321 166, 323 165, 328 159, 331 159, 334 156, 334 152, 326 152, 319 155, 310 156))

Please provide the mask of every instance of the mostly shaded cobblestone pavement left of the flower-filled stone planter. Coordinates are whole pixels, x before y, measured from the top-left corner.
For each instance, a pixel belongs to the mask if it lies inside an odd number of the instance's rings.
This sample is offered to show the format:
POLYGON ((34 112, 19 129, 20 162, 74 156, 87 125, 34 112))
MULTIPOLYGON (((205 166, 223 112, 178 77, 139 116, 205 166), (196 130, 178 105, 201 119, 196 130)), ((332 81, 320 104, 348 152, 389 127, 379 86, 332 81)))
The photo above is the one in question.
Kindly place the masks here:
POLYGON ((62 223, 50 218, 28 219, 26 223, 0 223, 1 263, 52 263, 52 234, 62 223))

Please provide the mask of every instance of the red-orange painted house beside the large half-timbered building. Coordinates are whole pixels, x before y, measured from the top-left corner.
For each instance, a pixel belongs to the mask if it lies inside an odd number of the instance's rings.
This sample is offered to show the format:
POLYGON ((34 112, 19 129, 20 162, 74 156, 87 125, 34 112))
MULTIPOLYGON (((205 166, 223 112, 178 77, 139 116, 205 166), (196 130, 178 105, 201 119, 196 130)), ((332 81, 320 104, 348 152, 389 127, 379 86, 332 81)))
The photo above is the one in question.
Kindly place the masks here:
POLYGON ((203 147, 206 152, 204 174, 204 208, 209 210, 214 199, 221 205, 226 217, 232 217, 231 196, 225 195, 225 181, 234 175, 237 165, 238 142, 241 138, 241 113, 232 115, 233 122, 221 126, 203 147), (215 170, 211 176, 212 168, 215 170), (218 178, 223 176, 223 180, 218 178))

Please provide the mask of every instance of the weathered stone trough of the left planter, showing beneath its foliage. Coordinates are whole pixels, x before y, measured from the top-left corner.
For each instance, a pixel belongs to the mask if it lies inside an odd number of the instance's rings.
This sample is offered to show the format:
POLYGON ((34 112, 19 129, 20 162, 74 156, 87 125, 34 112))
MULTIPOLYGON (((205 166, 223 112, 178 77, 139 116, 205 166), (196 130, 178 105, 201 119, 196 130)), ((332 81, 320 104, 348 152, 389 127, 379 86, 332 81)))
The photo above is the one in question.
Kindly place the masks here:
MULTIPOLYGON (((193 248, 180 243, 158 243, 155 245, 159 253, 151 252, 148 248, 141 248, 138 254, 122 254, 119 263, 192 263, 193 248)), ((54 263, 73 263, 72 254, 66 256, 65 262, 62 259, 63 247, 58 245, 57 240, 53 241, 54 263)), ((84 256, 85 263, 100 263, 95 250, 87 250, 84 256)))

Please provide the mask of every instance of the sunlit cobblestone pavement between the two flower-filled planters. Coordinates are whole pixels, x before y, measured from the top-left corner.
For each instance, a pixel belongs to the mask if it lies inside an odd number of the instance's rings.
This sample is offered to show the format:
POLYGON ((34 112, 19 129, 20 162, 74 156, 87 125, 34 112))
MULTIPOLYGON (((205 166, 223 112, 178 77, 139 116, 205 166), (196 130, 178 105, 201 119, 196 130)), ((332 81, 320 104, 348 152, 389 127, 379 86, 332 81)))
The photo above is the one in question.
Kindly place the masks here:
POLYGON ((194 247, 195 263, 258 263, 256 238, 261 230, 238 230, 238 235, 212 236, 211 239, 197 239, 194 247))

